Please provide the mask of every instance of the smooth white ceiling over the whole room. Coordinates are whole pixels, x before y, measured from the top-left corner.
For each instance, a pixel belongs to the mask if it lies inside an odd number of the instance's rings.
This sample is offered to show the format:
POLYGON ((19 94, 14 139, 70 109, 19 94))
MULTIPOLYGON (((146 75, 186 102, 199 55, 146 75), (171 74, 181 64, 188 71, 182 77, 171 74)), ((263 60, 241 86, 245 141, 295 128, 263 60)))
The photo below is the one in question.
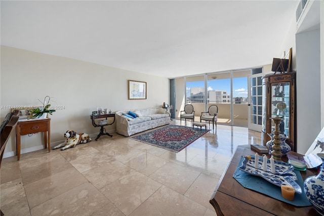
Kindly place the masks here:
POLYGON ((298 3, 1 1, 1 45, 168 78, 248 68, 280 57, 298 3))

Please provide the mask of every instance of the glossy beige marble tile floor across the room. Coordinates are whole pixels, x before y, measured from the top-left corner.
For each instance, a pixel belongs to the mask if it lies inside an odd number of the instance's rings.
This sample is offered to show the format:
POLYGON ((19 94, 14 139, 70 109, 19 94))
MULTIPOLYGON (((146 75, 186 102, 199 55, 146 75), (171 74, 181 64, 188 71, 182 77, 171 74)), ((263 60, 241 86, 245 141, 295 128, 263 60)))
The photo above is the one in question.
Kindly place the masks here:
POLYGON ((179 153, 114 133, 65 151, 5 158, 1 210, 6 216, 216 215, 209 199, 235 148, 251 143, 261 143, 259 132, 217 125, 179 153))

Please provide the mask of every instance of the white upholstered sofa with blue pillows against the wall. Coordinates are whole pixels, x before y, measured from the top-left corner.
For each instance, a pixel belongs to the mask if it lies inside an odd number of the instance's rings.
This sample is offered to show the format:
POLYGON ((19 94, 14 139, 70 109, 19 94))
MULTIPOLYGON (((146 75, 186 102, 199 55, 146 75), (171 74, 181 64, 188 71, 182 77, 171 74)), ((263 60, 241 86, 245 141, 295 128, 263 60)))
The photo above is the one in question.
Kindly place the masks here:
POLYGON ((170 124, 171 114, 163 108, 145 108, 136 110, 122 110, 115 114, 116 132, 124 136, 130 136, 148 129, 170 124), (130 119, 123 115, 130 111, 136 114, 136 118, 130 119))

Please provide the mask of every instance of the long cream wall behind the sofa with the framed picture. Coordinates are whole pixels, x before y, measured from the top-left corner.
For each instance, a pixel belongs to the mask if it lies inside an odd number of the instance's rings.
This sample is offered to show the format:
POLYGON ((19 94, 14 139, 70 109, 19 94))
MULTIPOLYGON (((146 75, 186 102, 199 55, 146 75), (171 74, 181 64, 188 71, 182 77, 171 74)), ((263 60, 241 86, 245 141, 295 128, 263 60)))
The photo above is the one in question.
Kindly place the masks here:
MULTIPOLYGON (((55 98, 52 105, 64 106, 51 116, 51 141, 57 142, 70 129, 97 135, 99 128, 90 119, 97 106, 112 112, 161 107, 163 101, 169 101, 169 79, 1 46, 1 106, 42 105, 37 99, 43 101, 46 95, 55 98), (147 82, 146 100, 128 99, 128 80, 147 82)), ((8 112, 1 110, 1 121, 8 112)), ((106 127, 115 128, 115 123, 106 127)), ((22 136, 21 153, 44 148, 43 137, 22 136)), ((4 157, 16 154, 15 141, 13 134, 4 157)))

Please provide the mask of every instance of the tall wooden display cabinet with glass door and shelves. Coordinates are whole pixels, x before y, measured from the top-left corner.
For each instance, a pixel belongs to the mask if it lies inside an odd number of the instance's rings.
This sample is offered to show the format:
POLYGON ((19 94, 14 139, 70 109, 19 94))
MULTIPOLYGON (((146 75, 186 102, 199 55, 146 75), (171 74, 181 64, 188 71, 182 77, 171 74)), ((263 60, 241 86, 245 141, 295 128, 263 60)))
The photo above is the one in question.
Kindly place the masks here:
POLYGON ((265 146, 270 137, 267 133, 274 130, 270 118, 280 117, 281 134, 285 134, 286 142, 297 152, 296 142, 296 73, 270 74, 262 78, 262 140, 265 146))

